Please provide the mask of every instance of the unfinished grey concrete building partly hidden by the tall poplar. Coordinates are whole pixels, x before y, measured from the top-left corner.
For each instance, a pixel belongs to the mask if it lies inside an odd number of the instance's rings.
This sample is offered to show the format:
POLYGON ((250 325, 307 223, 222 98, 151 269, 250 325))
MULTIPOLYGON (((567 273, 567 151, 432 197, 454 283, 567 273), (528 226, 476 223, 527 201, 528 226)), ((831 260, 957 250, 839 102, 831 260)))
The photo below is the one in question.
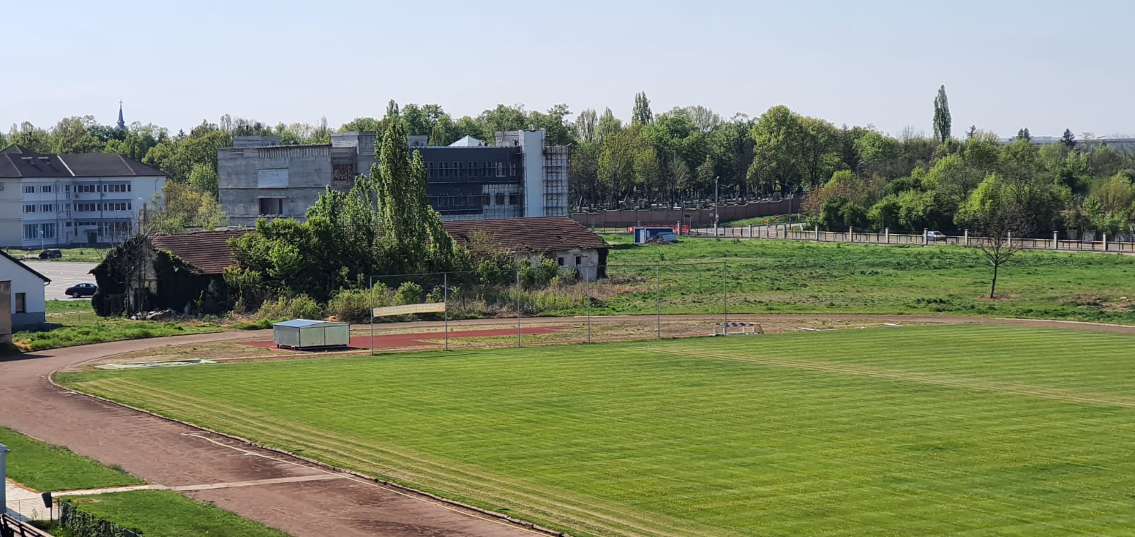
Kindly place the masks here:
MULTIPOLYGON (((280 145, 279 136, 236 136, 217 150, 220 203, 229 224, 303 219, 327 186, 347 191, 375 163, 376 133, 331 135, 329 144, 280 145)), ((568 216, 568 148, 544 131, 465 136, 444 146, 410 136, 426 161, 429 203, 444 220, 568 216)))

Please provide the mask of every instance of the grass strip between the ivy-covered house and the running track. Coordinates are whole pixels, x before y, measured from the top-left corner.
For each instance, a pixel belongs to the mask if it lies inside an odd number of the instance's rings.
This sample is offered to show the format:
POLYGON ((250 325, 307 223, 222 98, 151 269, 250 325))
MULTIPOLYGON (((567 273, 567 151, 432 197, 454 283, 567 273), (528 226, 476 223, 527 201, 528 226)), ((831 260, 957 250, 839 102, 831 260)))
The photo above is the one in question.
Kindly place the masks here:
POLYGON ((222 329, 216 322, 144 321, 99 317, 91 311, 89 301, 49 300, 45 316, 51 328, 16 332, 12 334, 12 342, 17 347, 24 351, 42 351, 121 339, 204 334, 222 329))

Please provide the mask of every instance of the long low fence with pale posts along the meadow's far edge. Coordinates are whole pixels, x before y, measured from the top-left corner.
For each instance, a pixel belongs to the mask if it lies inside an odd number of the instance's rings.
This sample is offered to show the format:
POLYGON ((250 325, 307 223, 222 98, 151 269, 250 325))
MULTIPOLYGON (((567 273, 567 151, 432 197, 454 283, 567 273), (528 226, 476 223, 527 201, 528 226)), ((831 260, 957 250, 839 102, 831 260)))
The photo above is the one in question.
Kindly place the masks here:
MULTIPOLYGON (((990 241, 986 237, 970 235, 968 230, 962 235, 942 235, 936 238, 926 235, 891 233, 884 229, 882 233, 863 233, 855 229, 846 232, 825 232, 818 227, 812 229, 789 228, 781 226, 745 226, 745 227, 718 227, 718 228, 696 228, 683 233, 691 237, 718 237, 718 238, 787 238, 790 241, 815 241, 815 242, 846 242, 865 244, 949 244, 955 246, 976 246, 982 241, 990 241)), ((1109 240, 1108 234, 1102 234, 1100 240, 1085 238, 1081 241, 1067 241, 1059 238, 1057 233, 1052 238, 1017 238, 1011 240, 1015 247, 1025 250, 1054 250, 1074 252, 1135 252, 1135 242, 1119 242, 1109 240)))

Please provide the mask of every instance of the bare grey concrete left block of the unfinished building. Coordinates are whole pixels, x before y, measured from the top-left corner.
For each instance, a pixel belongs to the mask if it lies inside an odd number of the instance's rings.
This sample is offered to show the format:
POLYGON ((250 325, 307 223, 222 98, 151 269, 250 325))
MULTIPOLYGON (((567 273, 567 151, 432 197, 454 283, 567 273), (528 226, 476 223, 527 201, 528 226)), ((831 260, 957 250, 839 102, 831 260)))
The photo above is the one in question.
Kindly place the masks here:
POLYGON ((232 148, 217 151, 220 204, 234 226, 253 226, 261 198, 283 198, 280 216, 302 219, 331 184, 330 145, 232 148), (260 170, 286 169, 286 186, 260 184, 260 170))

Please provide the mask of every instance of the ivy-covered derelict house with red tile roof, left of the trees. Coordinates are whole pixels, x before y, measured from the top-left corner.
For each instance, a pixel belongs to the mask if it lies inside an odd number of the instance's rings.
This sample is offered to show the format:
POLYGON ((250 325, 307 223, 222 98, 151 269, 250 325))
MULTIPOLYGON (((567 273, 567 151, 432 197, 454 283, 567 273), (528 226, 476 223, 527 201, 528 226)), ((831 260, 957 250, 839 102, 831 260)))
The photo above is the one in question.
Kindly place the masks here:
POLYGON ((99 284, 94 310, 100 314, 163 308, 182 313, 226 311, 225 270, 236 266, 228 241, 249 232, 140 235, 126 241, 91 270, 99 284))

